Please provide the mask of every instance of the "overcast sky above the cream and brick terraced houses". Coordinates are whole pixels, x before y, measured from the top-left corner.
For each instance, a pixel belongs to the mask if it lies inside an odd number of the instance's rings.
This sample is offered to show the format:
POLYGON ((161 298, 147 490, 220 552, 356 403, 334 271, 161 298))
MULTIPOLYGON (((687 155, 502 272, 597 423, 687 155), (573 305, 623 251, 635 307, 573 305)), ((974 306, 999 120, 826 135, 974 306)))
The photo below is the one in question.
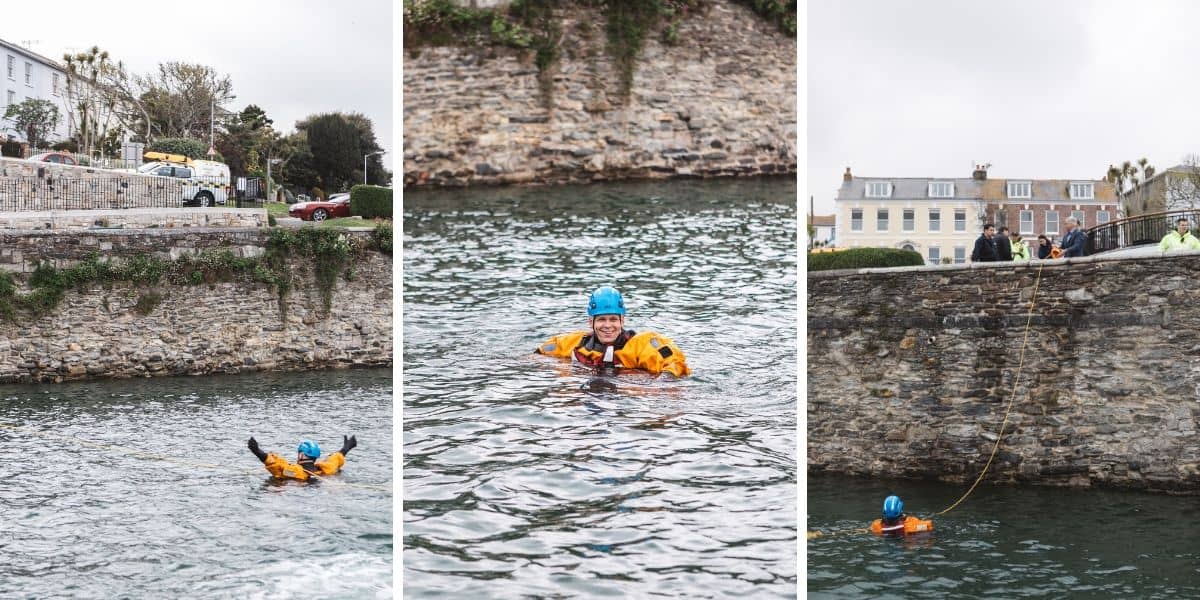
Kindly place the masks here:
MULTIPOLYGON (((1200 154, 1200 2, 808 5, 808 193, 864 176, 1100 179, 1200 154)), ((808 198, 802 206, 808 211, 808 198)))

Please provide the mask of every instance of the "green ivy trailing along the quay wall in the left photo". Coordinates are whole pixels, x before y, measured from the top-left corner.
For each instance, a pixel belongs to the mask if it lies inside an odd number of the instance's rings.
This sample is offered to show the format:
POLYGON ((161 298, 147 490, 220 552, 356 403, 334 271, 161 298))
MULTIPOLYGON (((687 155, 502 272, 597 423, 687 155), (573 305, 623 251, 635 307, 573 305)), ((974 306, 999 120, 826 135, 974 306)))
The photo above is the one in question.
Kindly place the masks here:
MULTIPOLYGON (((0 271, 0 320, 16 322, 22 313, 34 318, 49 314, 68 289, 91 284, 112 286, 199 286, 204 283, 265 283, 280 296, 280 313, 286 317, 287 296, 294 287, 293 265, 300 262, 313 270, 325 314, 332 307, 337 276, 348 272, 367 250, 391 252, 391 228, 377 228, 370 242, 352 240, 329 228, 299 230, 271 229, 266 252, 259 258, 241 258, 229 250, 185 254, 174 260, 138 254, 126 260, 106 260, 91 254, 66 269, 40 263, 29 276, 30 292, 22 294, 12 274, 0 271), (386 248, 386 250, 385 250, 386 248)), ((149 313, 161 296, 139 299, 137 311, 149 313)))

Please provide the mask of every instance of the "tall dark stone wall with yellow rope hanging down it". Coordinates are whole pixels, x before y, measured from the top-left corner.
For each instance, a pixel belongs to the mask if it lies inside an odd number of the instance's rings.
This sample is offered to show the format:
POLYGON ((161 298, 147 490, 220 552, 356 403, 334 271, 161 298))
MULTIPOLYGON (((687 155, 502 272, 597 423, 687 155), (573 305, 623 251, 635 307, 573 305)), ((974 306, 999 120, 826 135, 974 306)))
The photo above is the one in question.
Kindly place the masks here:
POLYGON ((1200 253, 814 272, 808 470, 1200 492, 1200 253), (1037 302, 1020 380, 1028 302, 1037 302))

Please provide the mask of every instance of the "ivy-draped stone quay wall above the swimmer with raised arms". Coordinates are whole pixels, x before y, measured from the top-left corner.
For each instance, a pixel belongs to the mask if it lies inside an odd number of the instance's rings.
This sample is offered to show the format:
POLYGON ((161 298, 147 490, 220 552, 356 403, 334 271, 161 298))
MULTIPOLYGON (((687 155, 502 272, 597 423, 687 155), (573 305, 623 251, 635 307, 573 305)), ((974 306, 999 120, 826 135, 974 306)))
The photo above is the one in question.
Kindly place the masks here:
MULTIPOLYGON (((143 230, 0 234, 0 252, 67 265, 103 250, 113 257, 179 256, 206 248, 263 252, 265 232, 143 230)), ((391 257, 367 252, 354 281, 338 277, 326 314, 304 257, 281 314, 264 284, 94 284, 68 290, 52 314, 0 318, 0 383, 390 366, 391 257), (149 314, 139 299, 157 293, 149 314)))

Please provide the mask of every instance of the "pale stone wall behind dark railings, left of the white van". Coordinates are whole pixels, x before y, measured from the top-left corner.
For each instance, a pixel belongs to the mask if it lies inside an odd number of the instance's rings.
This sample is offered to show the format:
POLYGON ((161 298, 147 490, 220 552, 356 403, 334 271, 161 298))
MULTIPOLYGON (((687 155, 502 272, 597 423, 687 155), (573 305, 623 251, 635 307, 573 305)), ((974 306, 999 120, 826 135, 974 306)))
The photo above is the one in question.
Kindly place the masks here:
POLYGON ((137 173, 0 158, 0 212, 174 208, 182 181, 137 173))

